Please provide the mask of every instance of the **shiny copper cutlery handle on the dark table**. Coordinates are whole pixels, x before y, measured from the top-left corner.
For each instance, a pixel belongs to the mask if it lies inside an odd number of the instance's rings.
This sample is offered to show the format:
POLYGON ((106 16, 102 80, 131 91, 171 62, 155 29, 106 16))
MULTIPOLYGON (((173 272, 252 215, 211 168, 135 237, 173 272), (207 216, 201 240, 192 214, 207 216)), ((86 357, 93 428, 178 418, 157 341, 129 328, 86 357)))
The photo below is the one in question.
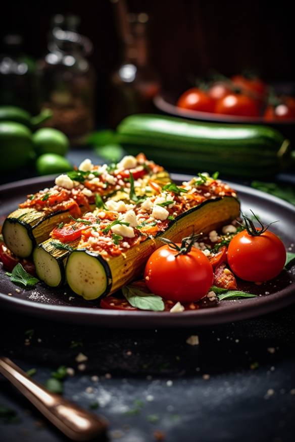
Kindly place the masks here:
POLYGON ((105 433, 108 426, 106 419, 48 392, 10 359, 0 357, 0 372, 69 438, 83 441, 105 433))

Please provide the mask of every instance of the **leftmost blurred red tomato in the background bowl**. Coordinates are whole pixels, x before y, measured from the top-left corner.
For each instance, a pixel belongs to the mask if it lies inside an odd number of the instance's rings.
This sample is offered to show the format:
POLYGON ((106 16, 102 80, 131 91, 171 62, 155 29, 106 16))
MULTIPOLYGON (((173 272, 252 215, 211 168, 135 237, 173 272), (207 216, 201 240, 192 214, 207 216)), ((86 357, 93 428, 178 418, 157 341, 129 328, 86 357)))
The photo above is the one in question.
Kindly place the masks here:
POLYGON ((215 100, 203 90, 194 87, 180 96, 177 106, 190 111, 214 112, 215 100))

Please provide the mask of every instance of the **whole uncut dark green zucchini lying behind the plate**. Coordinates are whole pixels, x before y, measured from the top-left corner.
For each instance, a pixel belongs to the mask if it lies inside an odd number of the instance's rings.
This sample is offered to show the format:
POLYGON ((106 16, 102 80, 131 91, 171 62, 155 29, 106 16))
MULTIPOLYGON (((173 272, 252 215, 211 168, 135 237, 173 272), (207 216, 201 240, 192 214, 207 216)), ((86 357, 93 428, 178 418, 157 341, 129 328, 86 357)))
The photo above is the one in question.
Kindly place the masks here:
POLYGON ((117 127, 117 140, 166 168, 265 177, 290 166, 288 140, 269 126, 199 123, 158 115, 132 115, 117 127))

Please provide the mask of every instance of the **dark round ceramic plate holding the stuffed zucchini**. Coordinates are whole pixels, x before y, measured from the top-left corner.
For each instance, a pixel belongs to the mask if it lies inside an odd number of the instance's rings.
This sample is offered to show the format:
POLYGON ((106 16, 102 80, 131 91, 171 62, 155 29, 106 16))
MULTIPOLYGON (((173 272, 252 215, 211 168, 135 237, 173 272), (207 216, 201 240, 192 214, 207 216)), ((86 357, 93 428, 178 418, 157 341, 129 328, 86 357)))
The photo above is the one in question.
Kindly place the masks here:
MULTIPOLYGON (((180 182, 187 181, 190 177, 175 174, 172 178, 180 182)), ((41 177, 0 186, 0 222, 3 222, 5 216, 13 211, 27 194, 50 187, 52 183, 53 177, 41 177)), ((251 208, 265 223, 280 220, 272 226, 272 230, 282 238, 287 249, 294 250, 295 207, 249 187, 231 185, 239 194, 243 211, 247 212, 251 208)), ((242 290, 261 295, 257 298, 221 301, 217 307, 174 314, 103 310, 97 303, 84 301, 73 294, 67 286, 63 289, 50 289, 38 284, 32 290, 20 289, 18 293, 17 286, 10 282, 3 269, 0 269, 0 287, 2 307, 19 313, 104 327, 190 327, 250 318, 291 304, 295 301, 295 266, 289 271, 284 270, 277 279, 261 286, 242 283, 239 285, 242 290)))

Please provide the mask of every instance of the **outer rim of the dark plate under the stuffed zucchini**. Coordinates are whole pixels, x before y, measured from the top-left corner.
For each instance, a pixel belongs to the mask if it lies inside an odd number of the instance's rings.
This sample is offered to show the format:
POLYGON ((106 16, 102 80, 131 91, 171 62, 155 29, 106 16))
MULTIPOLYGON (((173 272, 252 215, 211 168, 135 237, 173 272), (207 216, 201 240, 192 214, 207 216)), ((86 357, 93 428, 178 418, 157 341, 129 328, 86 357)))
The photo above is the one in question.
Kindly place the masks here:
MULTIPOLYGON (((26 180, 15 181, 13 183, 8 183, 0 186, 0 197, 4 192, 13 191, 18 188, 23 188, 25 186, 31 186, 35 184, 46 185, 48 181, 51 181, 56 177, 56 175, 47 175, 42 177, 34 177, 26 180)), ((192 175, 187 174, 176 174, 172 173, 171 178, 175 181, 187 181, 192 177, 192 175)), ((238 183, 232 183, 226 181, 229 185, 233 186, 237 192, 243 192, 250 194, 251 196, 258 196, 264 198, 271 203, 275 203, 287 210, 293 212, 295 217, 295 206, 284 201, 274 195, 267 194, 260 190, 251 188, 238 183)), ((168 327, 191 327, 191 326, 204 326, 221 324, 226 322, 234 322, 241 319, 253 318, 263 314, 267 314, 280 308, 286 307, 295 302, 295 297, 292 292, 288 290, 288 287, 270 295, 270 298, 261 297, 255 299, 243 299, 236 301, 223 301, 226 305, 223 307, 220 313, 212 315, 212 309, 200 309, 196 311, 184 311, 181 315, 171 314, 170 312, 149 312, 149 311, 138 311, 138 312, 128 312, 119 310, 104 310, 95 309, 89 307, 79 307, 79 306, 59 306, 52 304, 44 304, 41 302, 32 302, 25 299, 14 298, 13 296, 8 296, 0 292, 0 302, 3 306, 10 310, 16 310, 19 312, 24 312, 26 314, 31 314, 33 316, 47 317, 53 320, 60 321, 63 319, 64 322, 75 322, 75 323, 85 323, 87 318, 87 323, 91 325, 103 325, 112 328, 138 328, 139 318, 142 320, 139 328, 168 328, 168 327), (267 311, 262 311, 257 309, 257 302, 259 306, 264 306, 268 304, 267 311), (233 309, 232 306, 236 305, 233 309), (241 307, 242 306, 242 307, 241 307), (257 311, 258 310, 258 311, 257 311), (232 319, 230 316, 232 312, 235 312, 235 318, 232 319), (121 321, 117 324, 116 320, 112 320, 112 324, 108 324, 111 318, 126 318, 126 323, 122 324, 121 321), (133 319, 132 319, 133 318, 133 319), (159 321, 161 318, 161 321, 159 321), (100 319, 103 319, 100 322, 100 319), (143 323, 144 322, 144 323, 143 323)))

